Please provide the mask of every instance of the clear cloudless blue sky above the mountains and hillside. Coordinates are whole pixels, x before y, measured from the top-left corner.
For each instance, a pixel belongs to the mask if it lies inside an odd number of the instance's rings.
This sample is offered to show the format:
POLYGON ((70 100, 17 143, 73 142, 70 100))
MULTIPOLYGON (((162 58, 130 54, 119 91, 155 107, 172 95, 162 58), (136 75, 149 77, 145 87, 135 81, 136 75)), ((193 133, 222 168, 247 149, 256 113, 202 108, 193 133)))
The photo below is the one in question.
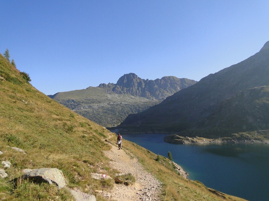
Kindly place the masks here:
POLYGON ((0 0, 0 52, 44 94, 176 76, 199 81, 269 41, 268 0, 0 0))

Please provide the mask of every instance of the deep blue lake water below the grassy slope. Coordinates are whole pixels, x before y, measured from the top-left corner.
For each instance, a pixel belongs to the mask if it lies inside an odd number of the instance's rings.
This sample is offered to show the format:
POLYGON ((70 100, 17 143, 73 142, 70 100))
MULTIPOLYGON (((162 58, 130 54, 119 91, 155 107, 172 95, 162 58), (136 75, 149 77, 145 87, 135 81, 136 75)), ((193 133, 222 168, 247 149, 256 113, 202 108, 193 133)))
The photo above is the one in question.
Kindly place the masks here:
POLYGON ((155 154, 168 157, 170 151, 188 179, 247 200, 269 200, 268 144, 183 145, 164 142, 164 134, 122 136, 155 154))

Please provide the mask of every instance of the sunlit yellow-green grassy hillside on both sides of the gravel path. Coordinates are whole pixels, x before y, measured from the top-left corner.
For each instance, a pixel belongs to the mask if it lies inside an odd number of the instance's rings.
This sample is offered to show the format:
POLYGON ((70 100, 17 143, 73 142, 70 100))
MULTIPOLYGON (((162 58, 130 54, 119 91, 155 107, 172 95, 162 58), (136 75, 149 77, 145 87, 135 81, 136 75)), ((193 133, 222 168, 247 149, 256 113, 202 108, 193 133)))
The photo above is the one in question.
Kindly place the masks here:
MULTIPOLYGON (((56 167, 63 171, 67 187, 107 200, 94 190, 110 191, 116 184, 113 180, 94 180, 89 175, 99 168, 112 177, 118 172, 109 167, 103 155, 111 148, 105 139, 115 142, 115 134, 36 90, 1 54, 0 100, 0 159, 12 164, 6 169, 8 177, 0 178, 0 200, 74 200, 66 188, 58 191, 55 185, 14 181, 23 169, 41 167, 56 167), (23 149, 26 154, 10 147, 23 149)), ((167 158, 156 161, 157 155, 134 143, 125 141, 125 147, 163 183, 162 200, 243 200, 184 179, 167 158)))

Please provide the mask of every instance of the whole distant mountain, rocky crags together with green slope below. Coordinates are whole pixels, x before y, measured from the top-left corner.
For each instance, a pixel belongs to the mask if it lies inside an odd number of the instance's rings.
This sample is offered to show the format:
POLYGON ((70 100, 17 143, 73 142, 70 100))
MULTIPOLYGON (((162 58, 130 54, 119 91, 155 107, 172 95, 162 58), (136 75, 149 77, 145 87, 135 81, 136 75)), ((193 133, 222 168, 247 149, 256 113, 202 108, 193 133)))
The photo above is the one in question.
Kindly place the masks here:
POLYGON ((174 76, 145 80, 129 73, 120 77, 116 84, 100 84, 49 97, 95 123, 112 127, 123 122, 129 114, 142 112, 195 82, 174 76))

